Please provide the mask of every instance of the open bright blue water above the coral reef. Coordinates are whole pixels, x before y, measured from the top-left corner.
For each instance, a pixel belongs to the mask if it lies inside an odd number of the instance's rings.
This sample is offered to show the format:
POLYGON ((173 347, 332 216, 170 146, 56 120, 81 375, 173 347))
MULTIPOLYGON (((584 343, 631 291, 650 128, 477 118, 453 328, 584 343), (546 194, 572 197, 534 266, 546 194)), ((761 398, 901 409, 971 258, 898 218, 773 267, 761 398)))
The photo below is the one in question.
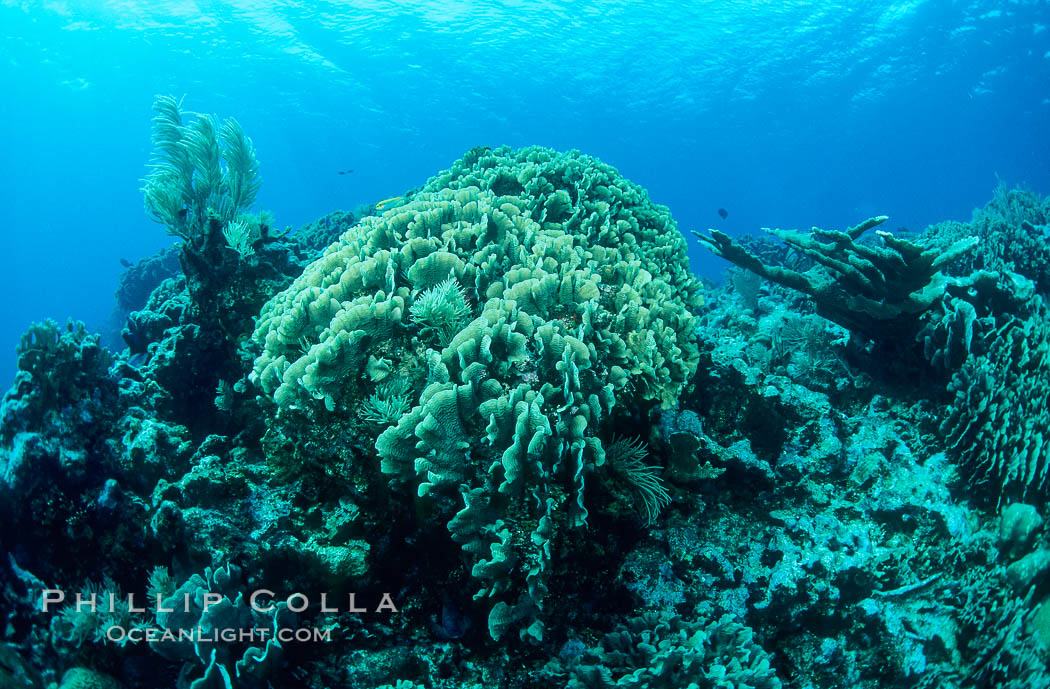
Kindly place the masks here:
POLYGON ((922 229, 996 175, 1050 192, 1048 26, 1046 1, 0 0, 0 378, 30 320, 108 328, 120 259, 171 242, 140 192, 154 95, 240 121, 279 226, 542 144, 684 230, 922 229))

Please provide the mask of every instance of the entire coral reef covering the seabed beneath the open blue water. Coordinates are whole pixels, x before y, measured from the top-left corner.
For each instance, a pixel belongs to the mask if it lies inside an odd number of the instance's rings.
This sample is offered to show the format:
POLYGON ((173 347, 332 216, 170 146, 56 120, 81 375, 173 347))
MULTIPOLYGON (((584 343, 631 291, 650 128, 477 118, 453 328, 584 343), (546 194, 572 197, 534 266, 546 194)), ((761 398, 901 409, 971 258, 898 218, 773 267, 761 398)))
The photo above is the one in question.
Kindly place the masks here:
POLYGON ((0 685, 1050 686, 1045 200, 714 233, 701 299, 579 152, 277 234, 159 106, 127 348, 34 325, 0 405, 0 685))

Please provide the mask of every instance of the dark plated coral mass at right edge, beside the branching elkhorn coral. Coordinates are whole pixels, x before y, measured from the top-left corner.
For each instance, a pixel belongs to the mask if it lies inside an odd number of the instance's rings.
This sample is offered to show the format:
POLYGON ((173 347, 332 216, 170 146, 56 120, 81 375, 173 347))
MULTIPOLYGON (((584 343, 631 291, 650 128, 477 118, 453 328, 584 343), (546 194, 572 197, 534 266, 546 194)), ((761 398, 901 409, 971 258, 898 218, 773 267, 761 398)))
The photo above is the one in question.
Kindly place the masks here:
POLYGON ((926 232, 936 246, 961 236, 979 241, 954 267, 972 274, 953 278, 919 339, 927 358, 951 376, 940 425, 945 445, 1000 504, 1050 489, 1048 217, 1050 201, 1000 185, 969 223, 926 232))

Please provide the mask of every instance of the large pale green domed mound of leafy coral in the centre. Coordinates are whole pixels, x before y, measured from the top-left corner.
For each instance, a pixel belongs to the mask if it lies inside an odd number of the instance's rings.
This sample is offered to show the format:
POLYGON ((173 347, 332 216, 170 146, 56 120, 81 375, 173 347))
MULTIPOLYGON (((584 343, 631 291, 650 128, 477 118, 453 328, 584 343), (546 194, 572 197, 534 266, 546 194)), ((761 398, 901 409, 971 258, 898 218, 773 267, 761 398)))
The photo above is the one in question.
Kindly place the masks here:
POLYGON ((609 424, 695 370, 698 291, 669 211, 614 168, 476 148, 264 308, 251 379, 278 417, 373 423, 385 474, 456 497, 491 634, 538 638, 552 535, 585 523, 609 424))

